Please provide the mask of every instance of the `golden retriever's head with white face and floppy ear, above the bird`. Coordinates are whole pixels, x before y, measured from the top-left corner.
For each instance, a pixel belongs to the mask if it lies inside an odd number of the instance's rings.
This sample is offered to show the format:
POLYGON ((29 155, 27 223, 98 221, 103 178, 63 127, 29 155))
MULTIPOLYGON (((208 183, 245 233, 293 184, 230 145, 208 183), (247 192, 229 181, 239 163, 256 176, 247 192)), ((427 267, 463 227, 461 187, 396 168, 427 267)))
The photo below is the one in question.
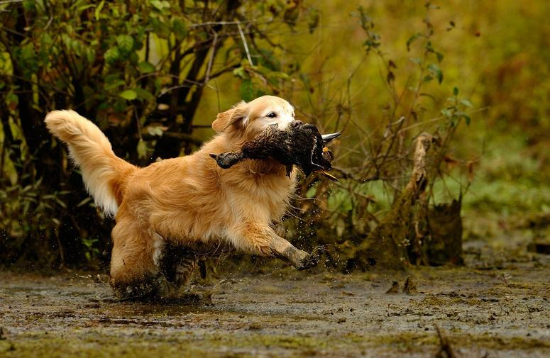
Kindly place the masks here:
POLYGON ((219 113, 212 128, 217 133, 238 135, 242 140, 252 140, 277 123, 279 129, 285 129, 294 121, 294 107, 279 97, 261 96, 257 99, 236 104, 229 111, 219 113))

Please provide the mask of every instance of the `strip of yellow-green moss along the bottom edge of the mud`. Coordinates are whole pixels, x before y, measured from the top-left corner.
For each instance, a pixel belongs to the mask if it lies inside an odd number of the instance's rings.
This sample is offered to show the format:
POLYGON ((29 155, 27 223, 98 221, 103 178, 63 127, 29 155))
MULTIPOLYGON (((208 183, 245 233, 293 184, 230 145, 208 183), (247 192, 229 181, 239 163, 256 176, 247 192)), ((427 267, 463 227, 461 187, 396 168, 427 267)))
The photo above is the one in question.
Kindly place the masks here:
MULTIPOLYGON (((258 350, 267 356, 305 357, 319 353, 343 352, 350 354, 365 349, 393 352, 425 352, 439 345, 430 330, 392 332, 392 334, 368 335, 357 332, 330 335, 271 335, 247 330, 248 333, 214 332, 199 335, 195 332, 150 332, 133 330, 117 336, 94 330, 73 330, 62 335, 47 332, 29 332, 16 340, 0 341, 0 356, 11 358, 58 357, 253 357, 258 350), (282 353, 284 352, 284 354, 282 353)), ((550 342, 529 337, 497 337, 488 333, 480 335, 449 334, 453 347, 484 347, 508 351, 548 349, 550 342)))

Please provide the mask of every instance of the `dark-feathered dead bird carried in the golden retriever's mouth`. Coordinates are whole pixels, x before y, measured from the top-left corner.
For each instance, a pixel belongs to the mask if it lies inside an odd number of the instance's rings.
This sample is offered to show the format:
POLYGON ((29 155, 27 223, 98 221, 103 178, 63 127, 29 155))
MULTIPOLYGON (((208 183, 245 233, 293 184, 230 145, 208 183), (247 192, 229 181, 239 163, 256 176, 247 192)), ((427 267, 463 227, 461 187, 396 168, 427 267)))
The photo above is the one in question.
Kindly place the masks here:
POLYGON ((218 165, 224 169, 244 159, 265 160, 273 158, 287 167, 287 174, 296 165, 307 176, 319 172, 329 179, 338 181, 328 172, 332 169, 334 155, 326 147, 329 142, 338 138, 341 132, 321 135, 312 124, 293 121, 285 130, 272 124, 250 142, 246 142, 238 152, 211 154, 218 165))

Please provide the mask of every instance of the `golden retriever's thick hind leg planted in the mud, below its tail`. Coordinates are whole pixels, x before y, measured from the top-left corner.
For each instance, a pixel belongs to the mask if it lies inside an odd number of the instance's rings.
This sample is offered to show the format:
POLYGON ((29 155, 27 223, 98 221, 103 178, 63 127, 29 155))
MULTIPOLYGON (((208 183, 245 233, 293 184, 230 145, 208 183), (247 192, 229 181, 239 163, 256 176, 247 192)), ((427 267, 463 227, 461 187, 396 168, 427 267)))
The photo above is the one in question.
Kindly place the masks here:
POLYGON ((165 281, 160 274, 163 238, 123 212, 119 212, 111 235, 114 245, 109 284, 115 294, 123 298, 145 298, 157 293, 165 281))

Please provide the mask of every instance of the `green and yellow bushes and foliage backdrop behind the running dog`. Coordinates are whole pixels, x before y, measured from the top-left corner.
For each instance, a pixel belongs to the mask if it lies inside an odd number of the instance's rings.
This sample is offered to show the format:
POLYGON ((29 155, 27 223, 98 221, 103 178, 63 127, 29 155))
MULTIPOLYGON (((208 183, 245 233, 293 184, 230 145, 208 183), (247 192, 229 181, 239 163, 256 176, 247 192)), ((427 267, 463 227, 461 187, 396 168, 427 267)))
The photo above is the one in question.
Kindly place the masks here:
POLYGON ((297 245, 360 245, 422 132, 449 139, 427 201, 462 194, 463 240, 547 237, 549 16, 541 0, 0 1, 0 262, 109 259, 113 221, 48 111, 74 108, 145 165, 192 152, 216 113, 260 94, 345 130, 341 181, 304 179, 285 220, 297 245))

